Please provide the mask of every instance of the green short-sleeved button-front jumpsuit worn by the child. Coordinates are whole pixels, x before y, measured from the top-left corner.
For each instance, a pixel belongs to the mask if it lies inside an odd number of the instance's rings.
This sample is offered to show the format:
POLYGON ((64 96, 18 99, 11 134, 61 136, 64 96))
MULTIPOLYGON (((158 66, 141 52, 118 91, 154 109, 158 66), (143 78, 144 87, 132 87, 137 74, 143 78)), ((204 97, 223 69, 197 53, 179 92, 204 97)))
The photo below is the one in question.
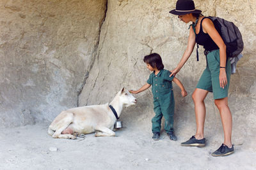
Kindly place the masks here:
POLYGON ((155 117, 152 118, 152 132, 161 131, 161 119, 164 116, 164 130, 173 131, 173 113, 174 113, 174 96, 172 88, 173 77, 171 72, 161 69, 157 75, 151 73, 147 83, 152 85, 152 94, 154 96, 155 117))

